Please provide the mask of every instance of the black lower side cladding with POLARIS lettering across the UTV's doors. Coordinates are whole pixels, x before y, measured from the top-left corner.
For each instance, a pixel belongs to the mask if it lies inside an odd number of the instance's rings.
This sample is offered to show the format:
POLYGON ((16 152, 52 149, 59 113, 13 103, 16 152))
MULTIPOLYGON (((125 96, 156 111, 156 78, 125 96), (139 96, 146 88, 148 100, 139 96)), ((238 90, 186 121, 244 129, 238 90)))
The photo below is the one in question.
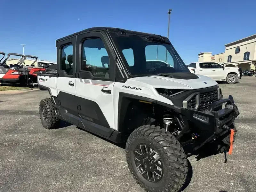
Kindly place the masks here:
MULTIPOLYGON (((42 85, 39 89, 47 90, 42 85)), ((111 137, 114 129, 110 128, 96 102, 65 92, 59 92, 57 97, 52 98, 55 102, 54 107, 58 109, 58 118, 108 139, 111 137)))

